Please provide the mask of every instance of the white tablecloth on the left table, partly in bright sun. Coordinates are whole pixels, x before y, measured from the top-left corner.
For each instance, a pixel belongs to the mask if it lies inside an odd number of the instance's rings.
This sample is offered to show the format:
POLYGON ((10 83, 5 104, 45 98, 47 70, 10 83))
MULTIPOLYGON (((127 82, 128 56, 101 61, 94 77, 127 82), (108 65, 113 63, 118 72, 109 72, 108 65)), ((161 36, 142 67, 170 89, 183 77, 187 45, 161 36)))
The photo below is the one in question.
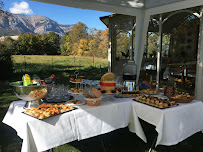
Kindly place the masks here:
POLYGON ((22 152, 45 151, 53 147, 104 134, 129 123, 131 100, 102 101, 44 120, 23 114, 25 101, 14 101, 3 123, 14 128, 23 139, 22 152))

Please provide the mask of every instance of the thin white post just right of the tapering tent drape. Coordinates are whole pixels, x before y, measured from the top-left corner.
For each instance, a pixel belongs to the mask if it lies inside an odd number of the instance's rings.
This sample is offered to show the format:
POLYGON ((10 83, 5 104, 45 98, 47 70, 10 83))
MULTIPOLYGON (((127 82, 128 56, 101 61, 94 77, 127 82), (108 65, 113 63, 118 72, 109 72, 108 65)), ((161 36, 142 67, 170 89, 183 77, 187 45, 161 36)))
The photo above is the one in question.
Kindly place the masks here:
POLYGON ((157 75, 156 75, 156 89, 159 89, 159 79, 160 79, 160 70, 161 70, 161 52, 162 52, 162 14, 159 15, 159 45, 157 52, 157 75))

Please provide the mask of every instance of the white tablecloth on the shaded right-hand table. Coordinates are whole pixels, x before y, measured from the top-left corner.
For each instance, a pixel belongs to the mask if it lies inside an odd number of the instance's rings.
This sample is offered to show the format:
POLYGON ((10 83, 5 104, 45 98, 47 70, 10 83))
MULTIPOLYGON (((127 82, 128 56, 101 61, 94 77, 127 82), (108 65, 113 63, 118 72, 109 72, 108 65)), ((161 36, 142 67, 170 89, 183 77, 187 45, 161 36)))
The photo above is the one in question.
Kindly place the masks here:
POLYGON ((129 129, 146 142, 139 118, 156 126, 157 145, 175 145, 189 136, 203 130, 203 103, 193 100, 173 108, 158 109, 142 103, 132 103, 129 129))

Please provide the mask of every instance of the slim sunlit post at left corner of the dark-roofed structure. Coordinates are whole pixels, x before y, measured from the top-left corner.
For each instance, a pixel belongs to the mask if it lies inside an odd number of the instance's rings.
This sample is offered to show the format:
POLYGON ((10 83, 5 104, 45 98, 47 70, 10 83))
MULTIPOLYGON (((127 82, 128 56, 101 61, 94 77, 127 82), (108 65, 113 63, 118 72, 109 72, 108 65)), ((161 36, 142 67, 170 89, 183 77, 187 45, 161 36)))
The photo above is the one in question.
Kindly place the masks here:
POLYGON ((108 72, 112 71, 112 25, 109 25, 108 72))

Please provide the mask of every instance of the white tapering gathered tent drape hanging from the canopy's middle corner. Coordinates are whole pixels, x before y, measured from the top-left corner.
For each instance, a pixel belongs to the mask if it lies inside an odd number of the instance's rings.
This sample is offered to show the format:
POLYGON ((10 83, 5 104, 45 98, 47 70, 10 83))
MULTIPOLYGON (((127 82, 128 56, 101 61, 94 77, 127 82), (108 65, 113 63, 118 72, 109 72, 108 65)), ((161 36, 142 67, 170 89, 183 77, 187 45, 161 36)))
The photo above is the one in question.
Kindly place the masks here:
POLYGON ((137 65, 136 83, 138 83, 140 76, 140 69, 144 54, 144 46, 149 26, 149 20, 150 15, 146 15, 144 11, 140 15, 136 16, 135 51, 134 51, 135 52, 134 60, 137 65))

